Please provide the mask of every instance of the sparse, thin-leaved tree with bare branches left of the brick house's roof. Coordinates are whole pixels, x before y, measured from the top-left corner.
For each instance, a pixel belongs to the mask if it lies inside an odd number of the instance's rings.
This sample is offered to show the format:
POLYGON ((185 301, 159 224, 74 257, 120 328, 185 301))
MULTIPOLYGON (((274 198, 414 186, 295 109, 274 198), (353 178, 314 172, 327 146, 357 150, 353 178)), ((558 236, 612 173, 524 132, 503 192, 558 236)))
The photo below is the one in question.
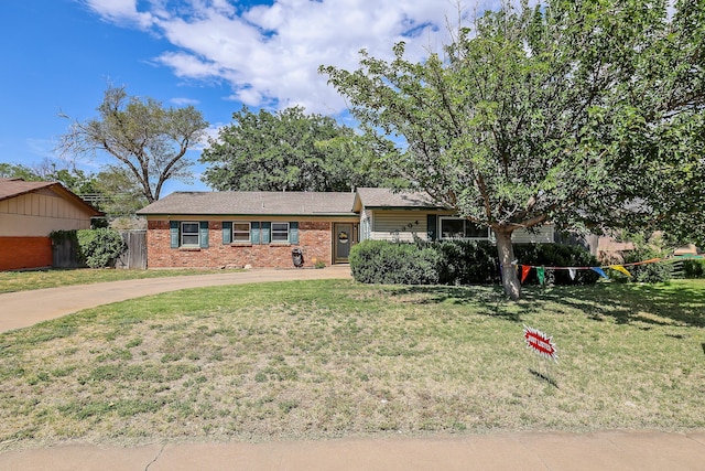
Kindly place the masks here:
POLYGON ((62 154, 105 152, 134 178, 149 203, 159 200, 167 180, 193 178, 194 162, 186 151, 208 127, 193 106, 164 108, 152 98, 128 96, 124 87, 109 86, 98 113, 98 118, 72 124, 58 146, 62 154))

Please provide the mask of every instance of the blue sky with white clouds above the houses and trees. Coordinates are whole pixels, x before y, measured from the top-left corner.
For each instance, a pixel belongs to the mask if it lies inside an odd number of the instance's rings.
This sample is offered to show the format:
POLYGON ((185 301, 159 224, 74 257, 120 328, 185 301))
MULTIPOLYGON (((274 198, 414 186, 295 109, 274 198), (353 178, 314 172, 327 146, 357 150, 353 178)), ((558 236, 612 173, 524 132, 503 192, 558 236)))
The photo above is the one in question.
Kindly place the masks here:
MULTIPOLYGON (((30 167, 56 158, 69 125, 59 113, 96 117, 108 83, 195 106, 212 136, 243 104, 343 117, 345 101, 318 65, 352 69, 360 49, 389 57, 401 40, 421 60, 458 17, 454 0, 10 0, 2 13, 0 162, 30 167)), ((95 172, 108 161, 77 163, 95 172)), ((162 196, 208 190, 203 167, 194 170, 192 184, 172 182, 162 196)))

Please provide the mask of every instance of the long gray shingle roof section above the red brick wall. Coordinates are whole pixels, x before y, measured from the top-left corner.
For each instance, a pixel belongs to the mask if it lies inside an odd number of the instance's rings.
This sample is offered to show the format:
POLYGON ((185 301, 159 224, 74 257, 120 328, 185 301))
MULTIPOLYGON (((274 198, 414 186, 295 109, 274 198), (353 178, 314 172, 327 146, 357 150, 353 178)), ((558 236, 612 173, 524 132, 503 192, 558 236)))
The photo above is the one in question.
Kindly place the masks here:
POLYGON ((354 203, 355 193, 175 192, 137 214, 354 216, 354 203))

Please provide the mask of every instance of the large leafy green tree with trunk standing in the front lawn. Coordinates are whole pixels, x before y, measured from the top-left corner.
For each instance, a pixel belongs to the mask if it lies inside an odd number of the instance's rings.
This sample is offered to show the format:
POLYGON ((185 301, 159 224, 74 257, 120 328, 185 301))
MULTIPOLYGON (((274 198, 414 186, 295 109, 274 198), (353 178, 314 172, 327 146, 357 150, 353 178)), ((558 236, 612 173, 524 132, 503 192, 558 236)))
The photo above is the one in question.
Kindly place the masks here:
POLYGON ((672 220, 665 192, 702 169, 703 6, 668 3, 522 1, 459 30, 443 56, 412 63, 400 43, 391 62, 362 51, 357 71, 321 72, 379 165, 494 231, 517 299, 514 231, 672 220))

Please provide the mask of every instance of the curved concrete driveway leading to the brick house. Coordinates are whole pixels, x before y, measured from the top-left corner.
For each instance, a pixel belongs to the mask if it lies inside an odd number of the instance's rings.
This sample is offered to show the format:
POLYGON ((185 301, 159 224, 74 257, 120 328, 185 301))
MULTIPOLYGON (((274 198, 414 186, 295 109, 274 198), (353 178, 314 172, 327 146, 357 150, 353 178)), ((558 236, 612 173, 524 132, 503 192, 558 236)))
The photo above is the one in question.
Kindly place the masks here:
POLYGON ((82 309, 180 289, 333 278, 350 278, 350 267, 334 265, 318 270, 253 269, 8 292, 0 295, 0 332, 26 328, 82 309))

